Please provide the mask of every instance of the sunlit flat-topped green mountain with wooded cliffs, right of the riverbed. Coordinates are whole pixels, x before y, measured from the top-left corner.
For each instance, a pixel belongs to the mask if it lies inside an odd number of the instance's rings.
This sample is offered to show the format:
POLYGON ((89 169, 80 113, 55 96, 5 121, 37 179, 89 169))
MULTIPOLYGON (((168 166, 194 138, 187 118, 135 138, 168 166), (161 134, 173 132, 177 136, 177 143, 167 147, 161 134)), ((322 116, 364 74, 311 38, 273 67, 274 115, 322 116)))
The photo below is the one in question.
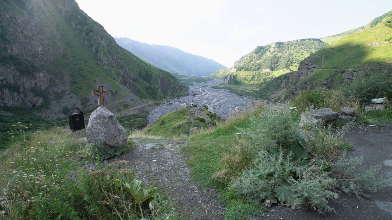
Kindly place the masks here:
POLYGON ((242 56, 233 67, 218 70, 211 76, 223 79, 224 83, 227 83, 216 88, 229 89, 238 95, 261 98, 258 90, 262 83, 297 70, 303 59, 327 45, 319 39, 300 39, 259 46, 242 56))

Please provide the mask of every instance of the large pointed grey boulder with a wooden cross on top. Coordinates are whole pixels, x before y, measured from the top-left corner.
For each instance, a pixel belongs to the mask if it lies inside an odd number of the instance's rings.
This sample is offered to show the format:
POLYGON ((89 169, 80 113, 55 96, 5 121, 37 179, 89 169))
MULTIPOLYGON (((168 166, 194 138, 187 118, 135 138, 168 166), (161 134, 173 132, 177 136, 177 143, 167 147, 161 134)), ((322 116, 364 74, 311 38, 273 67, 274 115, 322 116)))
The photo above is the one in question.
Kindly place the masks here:
POLYGON ((102 143, 104 147, 109 148, 118 148, 128 144, 127 132, 118 123, 116 116, 105 106, 99 106, 91 113, 86 138, 89 145, 102 143))

